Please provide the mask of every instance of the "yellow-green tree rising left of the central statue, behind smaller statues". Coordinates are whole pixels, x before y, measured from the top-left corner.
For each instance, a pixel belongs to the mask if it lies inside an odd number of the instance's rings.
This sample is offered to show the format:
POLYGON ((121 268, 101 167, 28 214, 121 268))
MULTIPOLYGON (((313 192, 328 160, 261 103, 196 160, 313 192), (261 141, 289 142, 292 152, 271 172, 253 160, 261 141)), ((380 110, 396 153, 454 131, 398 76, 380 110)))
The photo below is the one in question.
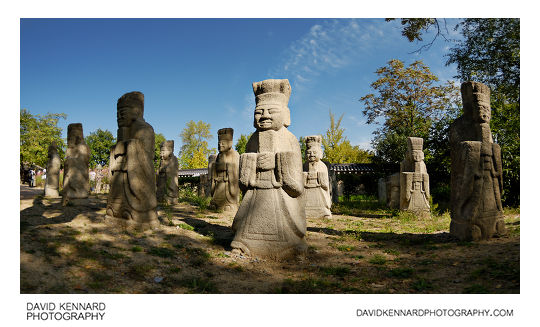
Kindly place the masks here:
POLYGON ((178 153, 180 166, 187 168, 206 168, 208 156, 216 153, 216 149, 208 148, 208 140, 212 139, 210 124, 203 121, 190 120, 180 133, 182 147, 178 153))

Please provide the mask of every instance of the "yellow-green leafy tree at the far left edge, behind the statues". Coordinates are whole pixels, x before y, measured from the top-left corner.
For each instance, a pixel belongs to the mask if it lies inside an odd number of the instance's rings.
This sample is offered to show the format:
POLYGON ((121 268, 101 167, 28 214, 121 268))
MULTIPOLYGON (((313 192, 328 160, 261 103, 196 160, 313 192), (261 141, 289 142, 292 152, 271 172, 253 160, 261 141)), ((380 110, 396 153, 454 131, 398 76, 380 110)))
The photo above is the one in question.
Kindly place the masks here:
POLYGON ((20 112, 20 160, 46 167, 49 145, 55 142, 60 158, 64 158, 65 141, 62 129, 57 126, 60 118, 66 119, 64 113, 48 113, 32 115, 27 109, 20 112))

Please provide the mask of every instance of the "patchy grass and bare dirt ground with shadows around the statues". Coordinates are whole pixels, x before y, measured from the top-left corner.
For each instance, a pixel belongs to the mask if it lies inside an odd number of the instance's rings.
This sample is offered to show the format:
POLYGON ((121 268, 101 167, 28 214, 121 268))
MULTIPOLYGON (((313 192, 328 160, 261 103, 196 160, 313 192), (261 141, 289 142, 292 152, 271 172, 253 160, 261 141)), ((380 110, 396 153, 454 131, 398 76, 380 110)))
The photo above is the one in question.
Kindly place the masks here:
POLYGON ((21 200, 21 293, 519 293, 519 210, 481 242, 451 237, 448 214, 308 219, 307 256, 274 262, 231 253, 231 216, 184 202, 135 232, 105 203, 21 200))

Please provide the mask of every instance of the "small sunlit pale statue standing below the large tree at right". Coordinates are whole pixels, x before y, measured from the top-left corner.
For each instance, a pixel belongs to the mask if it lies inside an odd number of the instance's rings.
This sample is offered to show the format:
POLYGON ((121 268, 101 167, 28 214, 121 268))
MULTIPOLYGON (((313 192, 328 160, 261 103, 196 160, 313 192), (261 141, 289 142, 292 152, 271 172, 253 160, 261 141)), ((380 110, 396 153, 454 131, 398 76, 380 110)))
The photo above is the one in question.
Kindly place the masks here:
POLYGON ((399 208, 419 216, 429 215, 429 175, 423 143, 420 137, 407 138, 407 153, 400 165, 399 208))

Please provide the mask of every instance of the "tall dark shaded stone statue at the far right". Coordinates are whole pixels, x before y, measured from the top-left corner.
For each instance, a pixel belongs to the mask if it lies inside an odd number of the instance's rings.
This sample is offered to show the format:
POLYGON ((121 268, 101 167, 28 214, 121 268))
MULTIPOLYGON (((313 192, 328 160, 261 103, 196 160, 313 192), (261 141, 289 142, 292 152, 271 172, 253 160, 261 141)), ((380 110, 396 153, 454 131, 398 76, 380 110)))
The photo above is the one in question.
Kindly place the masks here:
POLYGON ((501 148, 493 143, 490 90, 461 85, 463 115, 450 126, 450 233, 462 240, 489 239, 506 232, 501 203, 501 148))

